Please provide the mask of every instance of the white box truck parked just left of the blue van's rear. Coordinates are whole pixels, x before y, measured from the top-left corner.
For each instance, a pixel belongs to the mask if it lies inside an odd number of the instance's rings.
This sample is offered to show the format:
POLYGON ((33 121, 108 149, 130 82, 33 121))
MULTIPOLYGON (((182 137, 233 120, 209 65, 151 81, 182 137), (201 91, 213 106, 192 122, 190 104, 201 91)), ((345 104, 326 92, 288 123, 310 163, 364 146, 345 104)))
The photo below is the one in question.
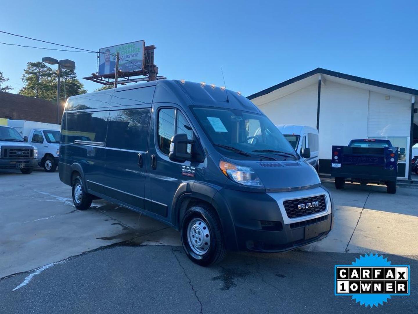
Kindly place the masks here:
POLYGON ((59 161, 59 124, 8 120, 8 126, 15 128, 29 144, 38 149, 38 165, 46 172, 54 172, 59 161))

